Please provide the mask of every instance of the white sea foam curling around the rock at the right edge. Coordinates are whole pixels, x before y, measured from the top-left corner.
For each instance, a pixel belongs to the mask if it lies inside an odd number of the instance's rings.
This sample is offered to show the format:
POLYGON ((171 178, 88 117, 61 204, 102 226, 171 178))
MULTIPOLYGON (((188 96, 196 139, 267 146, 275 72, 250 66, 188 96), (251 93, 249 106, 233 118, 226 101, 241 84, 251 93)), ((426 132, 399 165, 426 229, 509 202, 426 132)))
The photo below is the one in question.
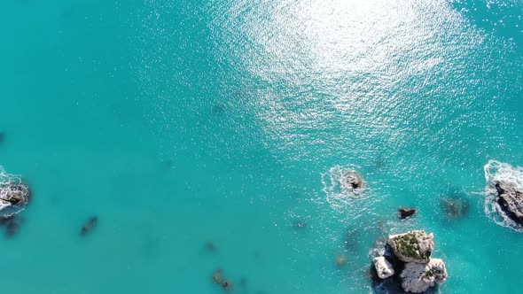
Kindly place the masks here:
POLYGON ((514 167, 508 163, 490 160, 483 169, 485 171, 485 181, 487 182, 484 191, 485 213, 487 213, 490 219, 496 221, 497 224, 518 232, 523 232, 523 228, 512 221, 497 203, 497 191, 495 187, 496 181, 503 180, 513 182, 516 187, 523 190, 523 167, 514 167))

